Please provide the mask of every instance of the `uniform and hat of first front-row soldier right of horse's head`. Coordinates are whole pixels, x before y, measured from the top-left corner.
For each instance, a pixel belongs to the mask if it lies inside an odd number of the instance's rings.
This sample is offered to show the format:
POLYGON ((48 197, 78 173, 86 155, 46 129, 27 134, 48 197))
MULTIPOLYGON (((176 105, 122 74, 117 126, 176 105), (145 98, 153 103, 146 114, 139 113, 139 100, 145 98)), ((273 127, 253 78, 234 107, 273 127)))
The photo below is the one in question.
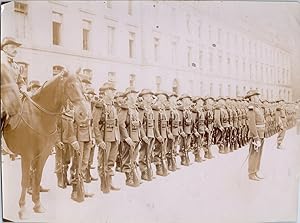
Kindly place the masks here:
MULTIPOLYGON (((109 83, 103 85, 103 91, 115 90, 109 83)), ((101 100, 96 103, 93 112, 93 127, 98 153, 98 173, 101 180, 101 191, 109 193, 115 190, 112 186, 114 165, 118 154, 120 142, 119 119, 113 101, 101 100)))

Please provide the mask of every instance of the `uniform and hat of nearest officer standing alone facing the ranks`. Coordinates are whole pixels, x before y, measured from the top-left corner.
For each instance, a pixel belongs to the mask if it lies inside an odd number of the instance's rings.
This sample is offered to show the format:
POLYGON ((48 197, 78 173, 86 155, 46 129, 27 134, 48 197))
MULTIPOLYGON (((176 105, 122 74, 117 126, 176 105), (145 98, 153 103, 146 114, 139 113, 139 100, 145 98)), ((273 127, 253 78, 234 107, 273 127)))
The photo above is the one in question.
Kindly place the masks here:
MULTIPOLYGON (((250 90, 247 93, 246 98, 251 98, 255 95, 259 95, 259 93, 255 90, 250 90)), ((261 178, 257 175, 257 172, 260 169, 260 161, 264 145, 265 118, 264 111, 258 102, 250 102, 247 117, 250 138, 248 174, 249 179, 259 180, 261 178)))

